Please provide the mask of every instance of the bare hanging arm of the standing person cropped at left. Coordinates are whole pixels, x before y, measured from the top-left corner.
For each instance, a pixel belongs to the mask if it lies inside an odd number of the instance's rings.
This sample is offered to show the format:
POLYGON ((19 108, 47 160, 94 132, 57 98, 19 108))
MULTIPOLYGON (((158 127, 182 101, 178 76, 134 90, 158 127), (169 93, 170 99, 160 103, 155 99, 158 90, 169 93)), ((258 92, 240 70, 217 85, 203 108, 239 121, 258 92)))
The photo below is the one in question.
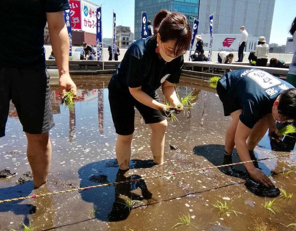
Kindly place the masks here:
POLYGON ((64 20, 64 12, 46 12, 52 50, 59 70, 59 88, 61 93, 68 92, 71 88, 76 96, 76 85, 69 74, 69 37, 64 20))

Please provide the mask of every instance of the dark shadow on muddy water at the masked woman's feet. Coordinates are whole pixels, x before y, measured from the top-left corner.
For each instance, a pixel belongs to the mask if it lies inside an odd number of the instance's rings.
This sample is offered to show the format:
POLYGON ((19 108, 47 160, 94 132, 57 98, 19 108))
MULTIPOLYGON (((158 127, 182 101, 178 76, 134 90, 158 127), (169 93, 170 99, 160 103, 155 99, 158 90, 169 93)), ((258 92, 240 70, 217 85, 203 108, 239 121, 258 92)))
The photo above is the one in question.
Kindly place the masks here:
MULTIPOLYGON (((153 160, 131 160, 130 170, 154 165, 153 160)), ((141 178, 140 175, 128 173, 128 170, 118 168, 116 159, 94 162, 78 170, 82 187, 141 178)), ((80 194, 84 201, 93 203, 93 207, 97 208, 97 213, 94 214, 97 219, 109 222, 125 220, 129 216, 130 210, 124 204, 127 199, 136 200, 135 207, 145 206, 141 202, 143 200, 155 201, 144 180, 102 187, 100 190, 80 191, 80 194)))

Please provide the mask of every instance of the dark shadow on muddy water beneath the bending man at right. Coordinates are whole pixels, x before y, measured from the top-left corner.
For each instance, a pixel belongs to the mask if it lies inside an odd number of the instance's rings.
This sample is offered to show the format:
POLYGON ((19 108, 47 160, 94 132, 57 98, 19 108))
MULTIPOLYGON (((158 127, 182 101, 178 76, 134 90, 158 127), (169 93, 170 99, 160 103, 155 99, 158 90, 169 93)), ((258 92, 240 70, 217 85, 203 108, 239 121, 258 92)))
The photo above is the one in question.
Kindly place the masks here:
MULTIPOLYGON (((193 148, 193 152, 196 155, 205 157, 215 166, 241 162, 236 149, 234 149, 234 154, 232 156, 224 155, 224 150, 225 146, 221 144, 200 145, 193 148)), ((250 157, 252 160, 257 160, 257 157, 255 155, 256 154, 254 152, 250 153, 250 157)), ((256 168, 263 171, 263 173, 265 173, 266 175, 269 175, 271 173, 271 170, 263 162, 255 161, 253 162, 253 164, 256 168)), ((219 167, 218 169, 226 175, 245 180, 246 188, 257 196, 276 197, 280 193, 279 189, 276 187, 265 187, 261 183, 257 183, 252 180, 252 178, 244 168, 244 165, 242 164, 219 167)))

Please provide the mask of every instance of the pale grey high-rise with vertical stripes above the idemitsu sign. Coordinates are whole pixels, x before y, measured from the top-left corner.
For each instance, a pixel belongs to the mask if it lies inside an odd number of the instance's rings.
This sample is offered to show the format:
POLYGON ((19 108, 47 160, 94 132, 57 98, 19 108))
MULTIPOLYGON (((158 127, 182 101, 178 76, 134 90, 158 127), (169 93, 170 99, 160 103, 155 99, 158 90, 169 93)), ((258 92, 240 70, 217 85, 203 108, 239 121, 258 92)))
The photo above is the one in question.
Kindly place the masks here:
POLYGON ((269 43, 275 0, 200 0, 198 34, 209 33, 209 16, 214 13, 214 34, 239 34, 244 25, 254 37, 269 43))

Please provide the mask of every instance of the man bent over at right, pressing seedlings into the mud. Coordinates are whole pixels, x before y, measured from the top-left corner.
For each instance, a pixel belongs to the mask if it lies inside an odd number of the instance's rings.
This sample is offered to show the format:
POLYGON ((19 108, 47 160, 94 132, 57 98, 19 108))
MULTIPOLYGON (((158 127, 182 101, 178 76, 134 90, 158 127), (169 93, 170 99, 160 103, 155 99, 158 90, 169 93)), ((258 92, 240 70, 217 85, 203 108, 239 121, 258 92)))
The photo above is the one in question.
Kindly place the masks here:
MULTIPOLYGON (((258 69, 242 69, 227 73, 217 83, 224 115, 232 122, 225 136, 225 155, 232 155, 234 145, 242 162, 254 158, 254 149, 266 134, 278 133, 280 123, 296 120, 296 88, 284 80, 258 69), (246 140, 248 141, 246 142, 246 140)), ((279 142, 281 137, 276 136, 279 142)), ((264 186, 271 180, 252 162, 245 163, 251 178, 264 186)))

